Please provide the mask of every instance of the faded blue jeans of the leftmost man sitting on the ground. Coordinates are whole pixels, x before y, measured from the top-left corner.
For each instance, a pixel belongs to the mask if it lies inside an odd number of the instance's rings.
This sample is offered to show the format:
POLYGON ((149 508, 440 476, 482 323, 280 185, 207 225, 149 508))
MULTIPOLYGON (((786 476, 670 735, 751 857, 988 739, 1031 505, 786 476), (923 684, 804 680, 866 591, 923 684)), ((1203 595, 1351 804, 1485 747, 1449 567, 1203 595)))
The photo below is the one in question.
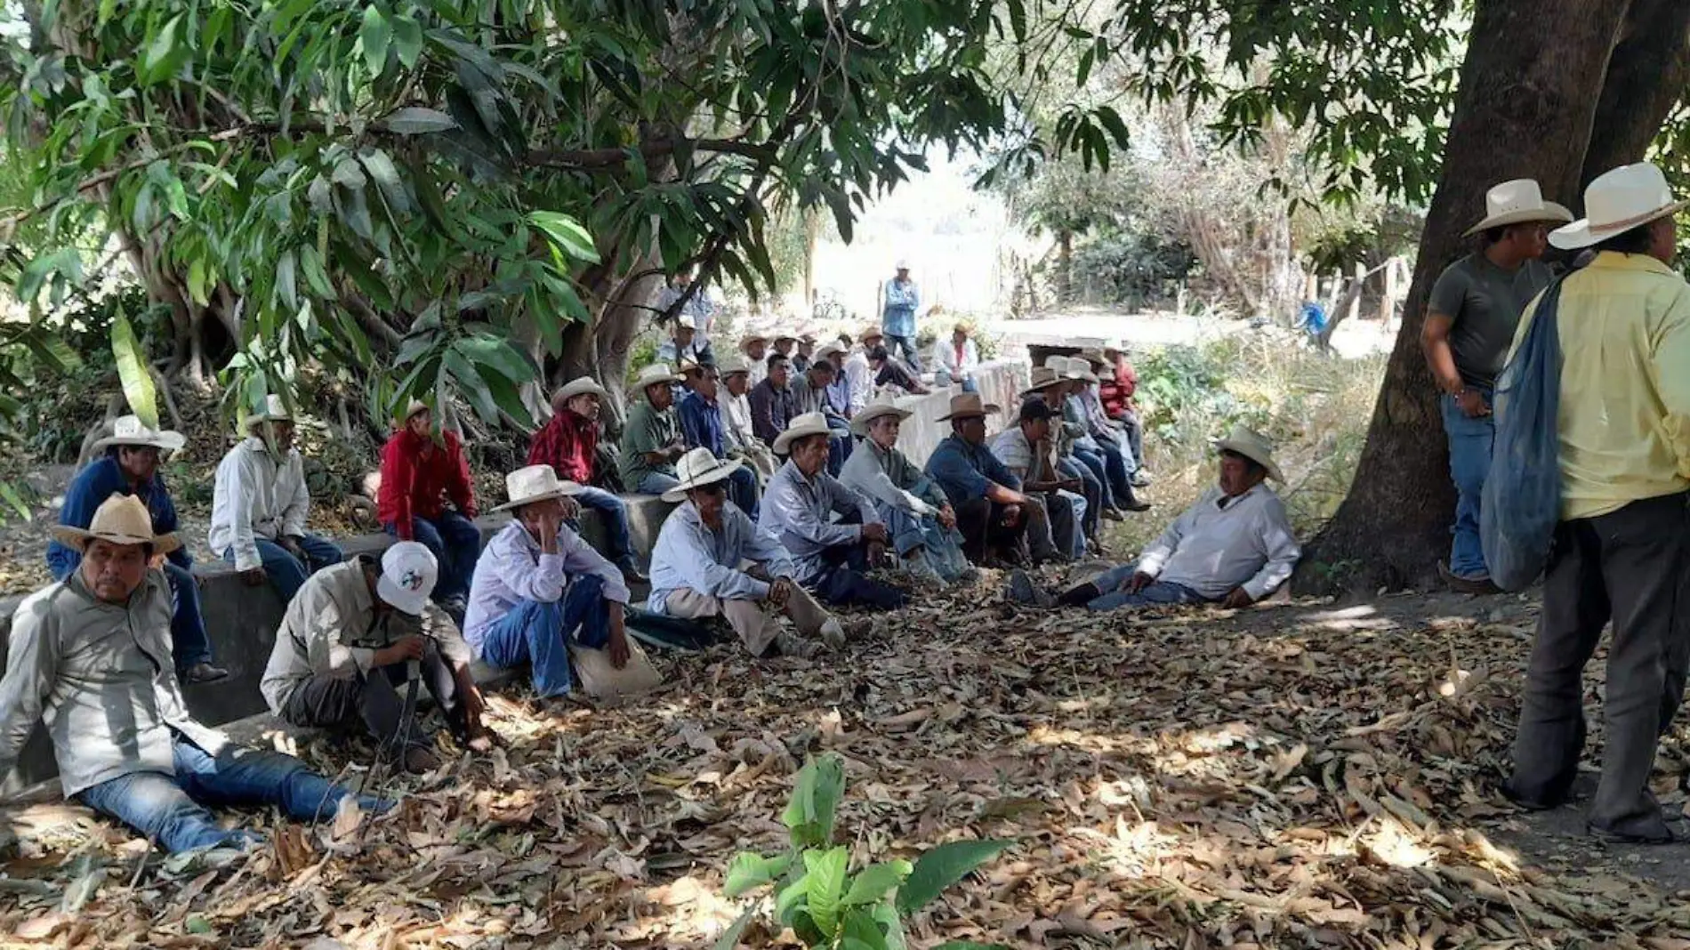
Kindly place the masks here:
MULTIPOLYGON (((245 845, 264 837, 247 830, 225 830, 210 811, 232 805, 275 805, 297 822, 335 816, 340 800, 352 789, 313 773, 309 766, 267 749, 230 745, 211 756, 176 737, 176 774, 130 773, 78 793, 83 805, 123 822, 159 842, 164 850, 183 852, 215 845, 245 845)), ((360 794, 365 811, 387 811, 392 801, 360 794)))

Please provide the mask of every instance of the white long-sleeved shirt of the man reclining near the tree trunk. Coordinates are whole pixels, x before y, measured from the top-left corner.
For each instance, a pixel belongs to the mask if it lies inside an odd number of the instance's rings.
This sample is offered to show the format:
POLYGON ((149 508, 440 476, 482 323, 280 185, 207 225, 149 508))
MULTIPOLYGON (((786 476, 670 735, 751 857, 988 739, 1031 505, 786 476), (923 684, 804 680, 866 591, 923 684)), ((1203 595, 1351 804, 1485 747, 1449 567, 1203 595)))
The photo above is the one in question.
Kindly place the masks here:
POLYGON ((1139 570, 1210 600, 1235 587, 1261 600, 1291 576, 1301 556, 1284 502, 1273 489, 1256 485, 1227 499, 1215 487, 1144 549, 1139 570))

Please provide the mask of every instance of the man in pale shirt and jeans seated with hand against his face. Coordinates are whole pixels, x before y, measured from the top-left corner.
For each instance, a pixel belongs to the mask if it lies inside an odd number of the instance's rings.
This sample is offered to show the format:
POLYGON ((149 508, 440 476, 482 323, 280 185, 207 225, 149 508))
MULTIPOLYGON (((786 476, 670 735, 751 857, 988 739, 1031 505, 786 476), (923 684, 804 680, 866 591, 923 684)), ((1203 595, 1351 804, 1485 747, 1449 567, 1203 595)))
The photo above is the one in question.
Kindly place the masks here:
POLYGON ((622 625, 622 571, 564 524, 575 489, 548 465, 505 477, 510 500, 495 510, 514 517, 475 565, 463 637, 492 666, 532 664, 541 696, 568 695, 575 674, 603 700, 652 690, 661 678, 622 625))

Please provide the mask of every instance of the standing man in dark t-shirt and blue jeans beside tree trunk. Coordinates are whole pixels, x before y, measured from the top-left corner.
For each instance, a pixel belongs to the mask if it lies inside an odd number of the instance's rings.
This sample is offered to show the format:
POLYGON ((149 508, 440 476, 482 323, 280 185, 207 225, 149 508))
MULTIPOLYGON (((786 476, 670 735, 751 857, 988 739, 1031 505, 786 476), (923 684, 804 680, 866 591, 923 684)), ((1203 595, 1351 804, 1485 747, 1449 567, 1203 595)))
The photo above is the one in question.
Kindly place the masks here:
POLYGON ((1486 194, 1486 220, 1467 230, 1482 235, 1482 248, 1438 277, 1426 303, 1420 345, 1442 392, 1443 431, 1450 440, 1455 480, 1455 536, 1450 561, 1438 573, 1455 590, 1496 593, 1479 543, 1479 497, 1491 472, 1496 424, 1491 394, 1507 360, 1519 314, 1545 287, 1550 269, 1550 225, 1573 220, 1572 211, 1545 201, 1536 181, 1504 181, 1486 194))

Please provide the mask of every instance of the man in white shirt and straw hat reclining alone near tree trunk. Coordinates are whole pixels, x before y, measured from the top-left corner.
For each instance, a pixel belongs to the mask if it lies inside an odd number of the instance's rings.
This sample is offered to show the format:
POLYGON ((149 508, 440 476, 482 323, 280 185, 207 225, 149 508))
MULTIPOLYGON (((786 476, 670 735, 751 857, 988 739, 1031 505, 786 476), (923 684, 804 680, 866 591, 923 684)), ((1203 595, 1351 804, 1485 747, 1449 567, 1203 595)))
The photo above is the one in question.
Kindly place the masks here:
POLYGON ((1237 426, 1215 443, 1220 480, 1163 532, 1137 563, 1120 565, 1065 590, 1060 597, 1033 587, 1024 571, 1009 580, 1009 597, 1022 603, 1078 605, 1092 610, 1153 603, 1256 603, 1289 580, 1303 549, 1291 532, 1284 502, 1264 482, 1284 482, 1268 440, 1237 426))

